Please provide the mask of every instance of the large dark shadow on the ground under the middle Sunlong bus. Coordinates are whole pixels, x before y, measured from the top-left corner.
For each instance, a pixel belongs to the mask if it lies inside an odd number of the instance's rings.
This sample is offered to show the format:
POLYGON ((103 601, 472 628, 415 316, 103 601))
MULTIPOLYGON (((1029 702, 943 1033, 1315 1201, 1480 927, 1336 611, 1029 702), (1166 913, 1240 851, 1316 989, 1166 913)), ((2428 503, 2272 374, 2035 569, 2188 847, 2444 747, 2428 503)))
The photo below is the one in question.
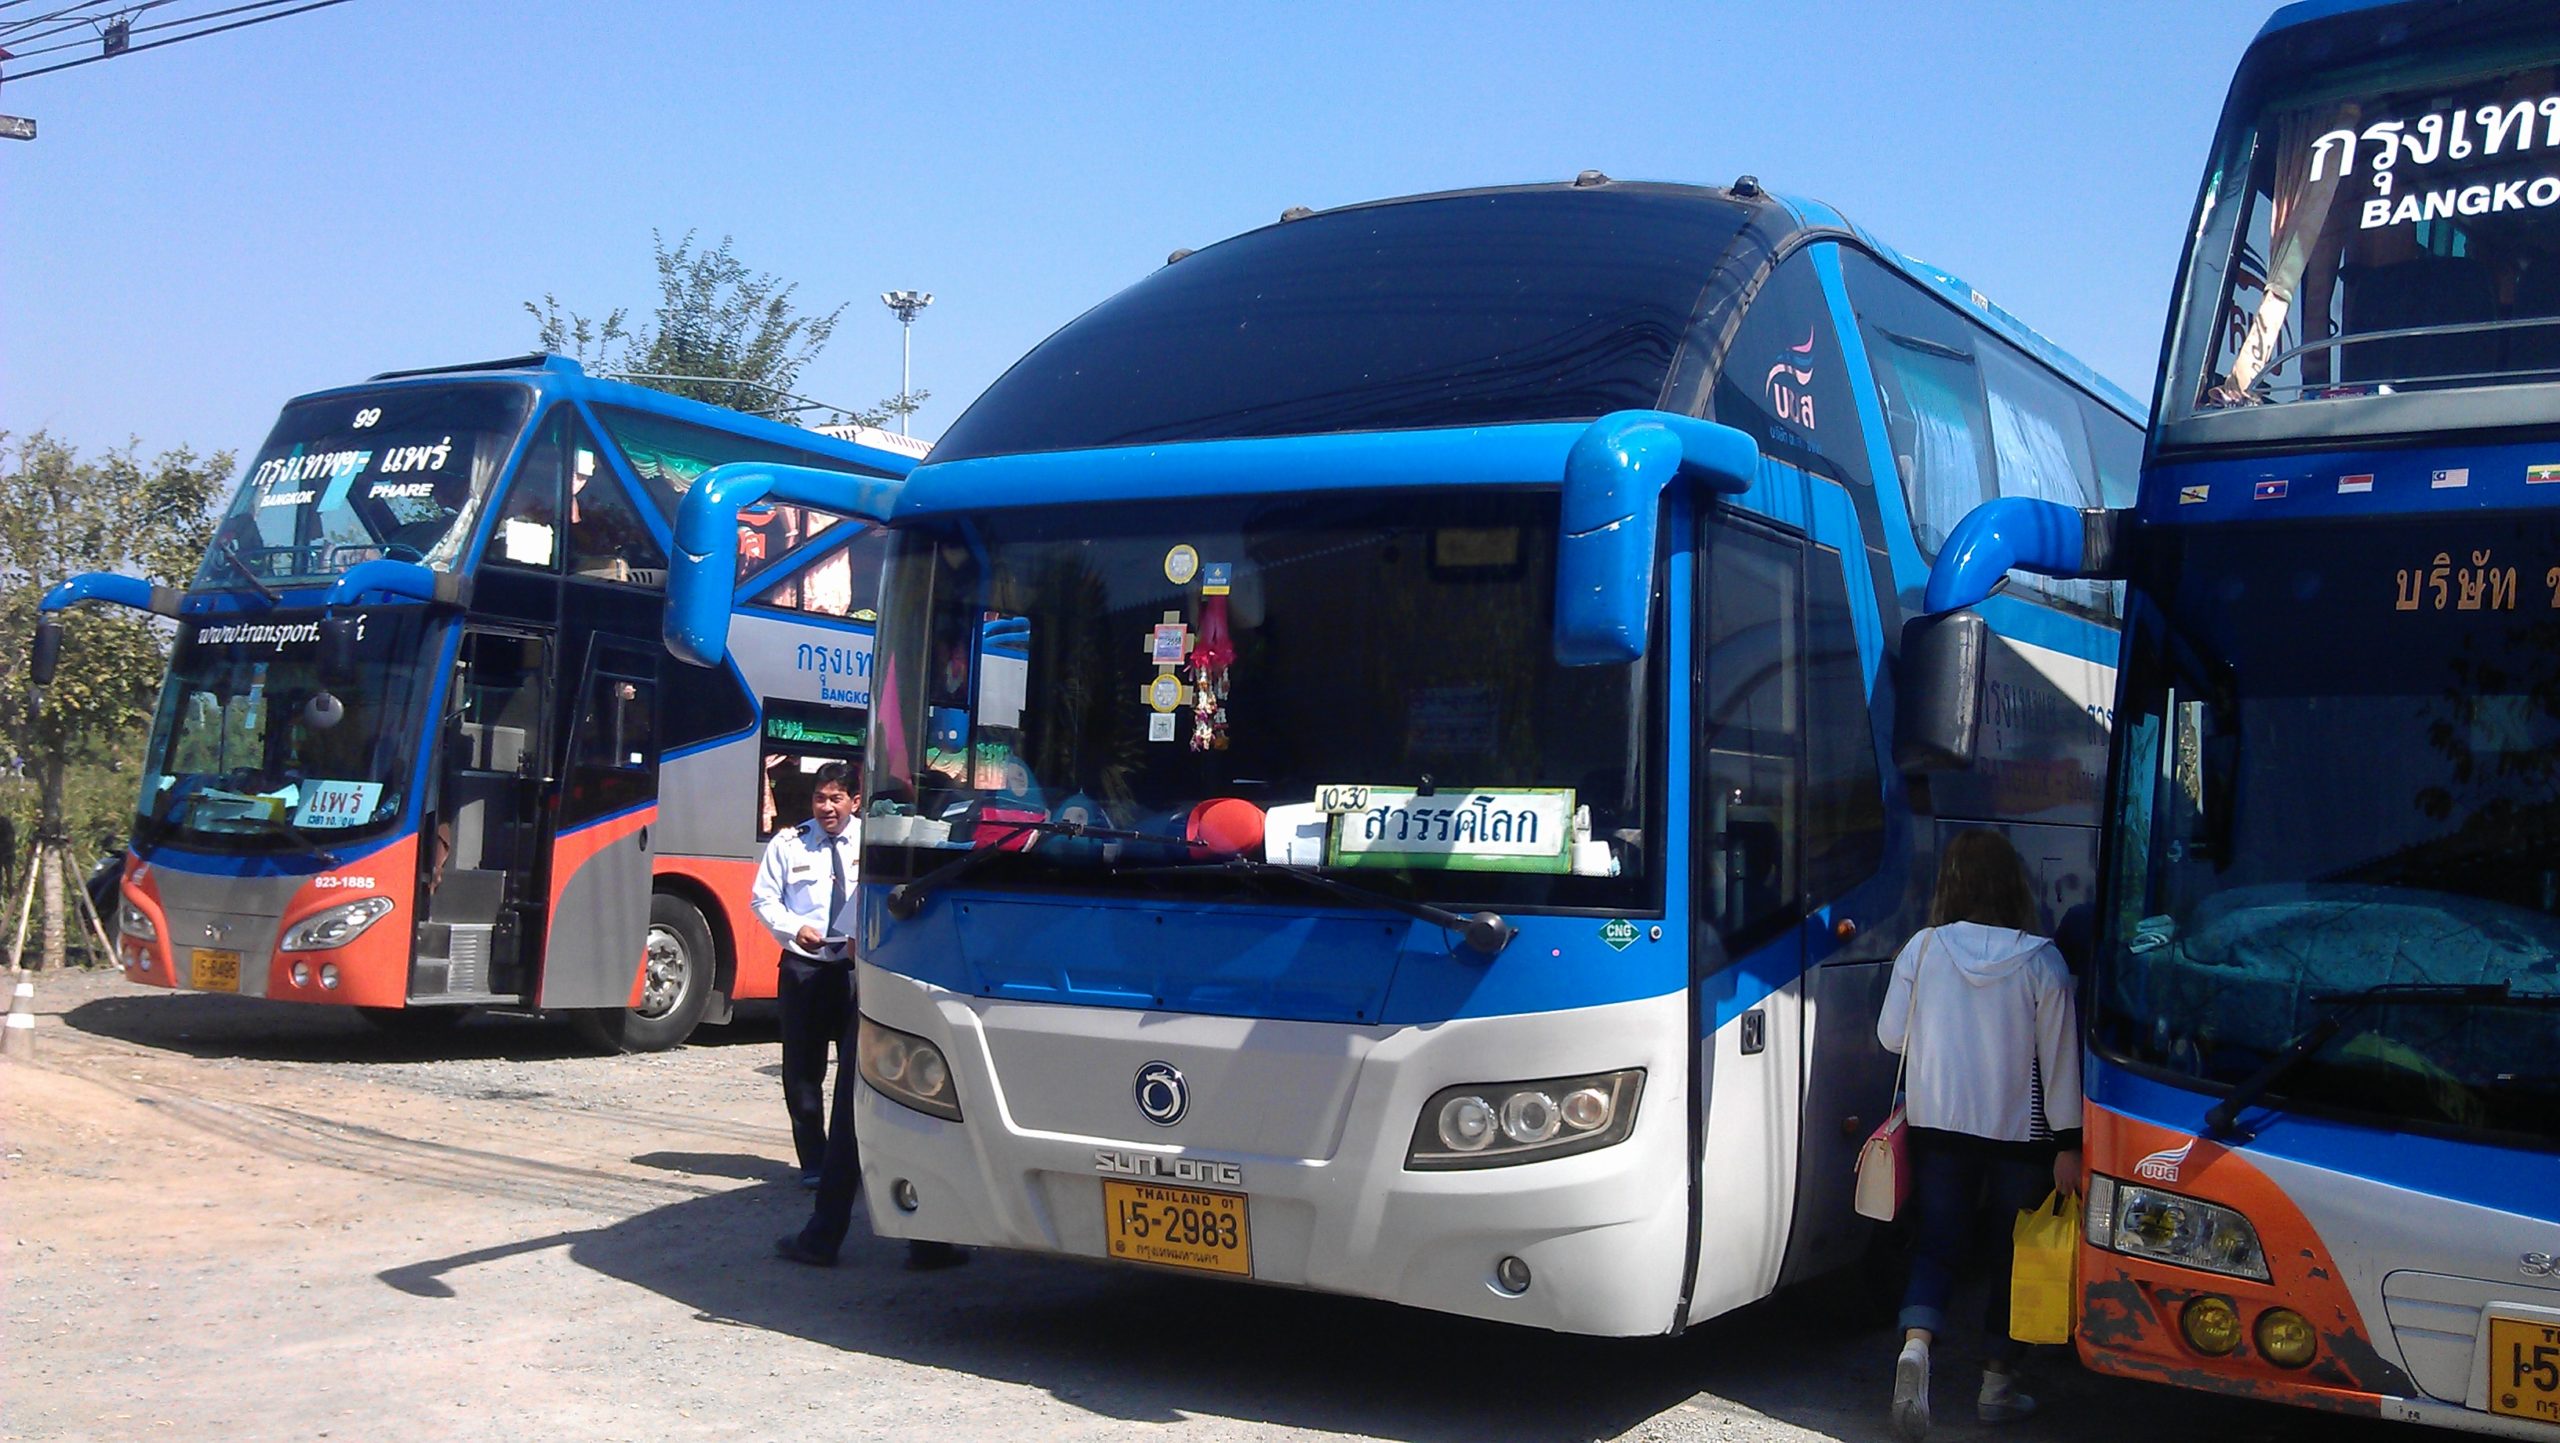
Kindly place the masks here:
MULTIPOLYGON (((699 1177, 778 1169, 727 1154, 632 1162, 699 1177)), ((1316 1292, 1006 1254, 911 1274, 901 1243, 860 1231, 835 1272, 773 1259, 771 1241, 799 1228, 806 1208, 806 1192, 786 1182, 740 1187, 379 1277, 415 1297, 453 1297, 471 1287, 476 1264, 566 1246, 581 1266, 671 1297, 704 1325, 1037 1387, 1132 1423, 1208 1415, 1411 1443, 1585 1443, 1661 1415, 1674 1417, 1646 1435, 1718 1438, 1741 1423, 1736 1412, 1759 1412, 1841 1440, 1892 1438, 1884 1394, 1894 1336, 1848 1302, 1851 1287, 1795 1289, 1684 1338, 1564 1338, 1316 1292), (1687 1412, 1692 1400, 1697 1415, 1687 1412)), ((1994 1435, 1971 1420, 1971 1348, 1956 1341, 1946 1351, 1938 1435, 1994 1435)), ((2327 1417, 2097 1379, 2061 1351, 2048 1353, 2035 1366, 2045 1412, 1999 1438, 2363 1438, 2327 1417)))

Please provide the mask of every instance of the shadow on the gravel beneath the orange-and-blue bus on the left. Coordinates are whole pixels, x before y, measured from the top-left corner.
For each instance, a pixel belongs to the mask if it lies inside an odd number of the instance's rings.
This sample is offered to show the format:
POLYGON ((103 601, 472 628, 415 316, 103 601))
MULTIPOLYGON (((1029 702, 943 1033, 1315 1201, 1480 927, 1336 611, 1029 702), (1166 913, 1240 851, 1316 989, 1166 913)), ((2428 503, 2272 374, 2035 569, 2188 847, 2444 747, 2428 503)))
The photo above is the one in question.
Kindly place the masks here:
MULTIPOLYGON (((212 993, 97 998, 61 1013, 61 1026, 187 1057, 251 1062, 550 1062, 594 1052, 561 1018, 476 1011, 458 1023, 410 1031, 381 1029, 353 1008, 212 993)), ((781 1029, 771 1005, 742 1005, 735 1023, 699 1029, 686 1046, 745 1046, 776 1036, 781 1029)))

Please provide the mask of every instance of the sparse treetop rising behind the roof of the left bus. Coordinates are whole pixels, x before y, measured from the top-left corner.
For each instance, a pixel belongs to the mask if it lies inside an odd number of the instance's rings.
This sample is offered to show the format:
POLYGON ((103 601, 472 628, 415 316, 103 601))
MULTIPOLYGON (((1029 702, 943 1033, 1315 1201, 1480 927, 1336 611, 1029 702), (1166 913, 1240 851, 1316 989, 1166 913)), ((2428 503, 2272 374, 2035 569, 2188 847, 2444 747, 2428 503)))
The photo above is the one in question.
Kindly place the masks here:
MULTIPOLYGON (((676 246, 650 230, 658 256, 658 310, 632 322, 630 307, 604 320, 561 310, 553 292, 525 302, 538 322, 538 345, 589 366, 622 371, 643 386, 755 414, 796 414, 799 374, 835 335, 845 307, 817 315, 799 310, 799 281, 750 271, 732 251, 735 238, 696 248, 686 230, 676 246)), ((858 425, 886 425, 914 412, 924 391, 891 397, 860 412, 835 412, 858 425)))

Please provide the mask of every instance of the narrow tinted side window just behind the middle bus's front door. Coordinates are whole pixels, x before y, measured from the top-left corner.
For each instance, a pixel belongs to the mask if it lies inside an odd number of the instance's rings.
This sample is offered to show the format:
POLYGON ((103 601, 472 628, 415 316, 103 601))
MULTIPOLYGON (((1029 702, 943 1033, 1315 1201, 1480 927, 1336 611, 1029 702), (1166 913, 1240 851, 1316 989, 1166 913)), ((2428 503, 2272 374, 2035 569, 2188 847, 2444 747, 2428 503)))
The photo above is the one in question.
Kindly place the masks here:
POLYGON ((1884 775, 1876 768, 1866 665, 1848 611, 1841 553, 1805 560, 1805 901, 1823 906, 1884 862, 1884 775))

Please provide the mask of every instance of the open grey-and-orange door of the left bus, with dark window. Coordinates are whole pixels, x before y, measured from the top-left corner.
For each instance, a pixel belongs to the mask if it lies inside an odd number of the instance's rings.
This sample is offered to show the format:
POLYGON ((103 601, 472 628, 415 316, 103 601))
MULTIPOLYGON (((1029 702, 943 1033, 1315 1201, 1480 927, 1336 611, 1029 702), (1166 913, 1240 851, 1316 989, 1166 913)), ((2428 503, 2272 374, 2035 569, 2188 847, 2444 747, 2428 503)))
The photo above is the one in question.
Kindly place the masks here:
POLYGON ((589 637, 553 808, 545 1008, 632 1005, 648 947, 663 655, 635 637, 589 637))

